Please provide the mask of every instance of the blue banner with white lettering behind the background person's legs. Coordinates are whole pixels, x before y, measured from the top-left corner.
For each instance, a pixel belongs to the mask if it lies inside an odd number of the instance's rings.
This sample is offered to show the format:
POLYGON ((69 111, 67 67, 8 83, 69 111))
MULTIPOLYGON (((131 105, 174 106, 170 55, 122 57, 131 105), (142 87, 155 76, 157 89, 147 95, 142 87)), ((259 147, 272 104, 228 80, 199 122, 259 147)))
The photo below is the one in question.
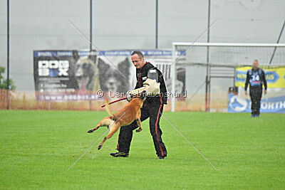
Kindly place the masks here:
MULTIPOLYGON (((229 94, 227 112, 252 112, 251 105, 249 99, 229 94)), ((285 96, 261 99, 260 112, 285 113, 285 96)))

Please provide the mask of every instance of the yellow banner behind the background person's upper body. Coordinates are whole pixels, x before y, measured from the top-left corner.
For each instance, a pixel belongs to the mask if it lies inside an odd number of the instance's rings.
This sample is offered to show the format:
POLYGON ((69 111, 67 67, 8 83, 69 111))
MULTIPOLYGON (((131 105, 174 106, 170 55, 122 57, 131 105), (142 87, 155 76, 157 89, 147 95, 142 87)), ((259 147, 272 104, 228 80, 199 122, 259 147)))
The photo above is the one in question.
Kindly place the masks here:
MULTIPOLYGON (((267 88, 285 88, 285 67, 280 68, 262 68, 266 75, 267 88)), ((252 67, 236 68, 236 86, 244 87, 247 78, 247 70, 252 67)))

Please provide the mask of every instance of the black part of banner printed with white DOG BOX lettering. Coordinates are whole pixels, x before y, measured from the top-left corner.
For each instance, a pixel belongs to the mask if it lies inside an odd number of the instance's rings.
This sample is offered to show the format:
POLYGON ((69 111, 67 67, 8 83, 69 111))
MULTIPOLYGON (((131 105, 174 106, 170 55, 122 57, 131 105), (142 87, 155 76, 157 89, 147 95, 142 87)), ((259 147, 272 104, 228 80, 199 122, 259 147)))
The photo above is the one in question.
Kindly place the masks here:
POLYGON ((38 92, 74 92, 75 59, 71 51, 34 51, 33 76, 38 92))

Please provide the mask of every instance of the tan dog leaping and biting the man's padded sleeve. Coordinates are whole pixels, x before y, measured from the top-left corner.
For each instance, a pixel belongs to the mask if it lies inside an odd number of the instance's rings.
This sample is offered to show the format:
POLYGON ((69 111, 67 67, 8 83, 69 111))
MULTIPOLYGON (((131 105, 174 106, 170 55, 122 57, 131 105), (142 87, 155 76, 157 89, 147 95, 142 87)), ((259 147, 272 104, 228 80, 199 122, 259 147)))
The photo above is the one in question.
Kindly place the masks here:
POLYGON ((119 110, 113 114, 110 111, 108 99, 106 99, 105 109, 110 116, 103 118, 103 120, 101 120, 95 128, 88 131, 91 133, 95 130, 98 130, 99 127, 108 127, 109 134, 104 137, 103 141, 98 146, 98 149, 103 146, 103 143, 106 139, 110 139, 110 137, 112 137, 113 134, 115 134, 115 132, 117 132, 118 129, 122 126, 130 125, 132 122, 136 121, 138 123, 139 129, 135 130, 135 132, 140 132, 142 130, 142 124, 140 121, 140 107, 142 107, 144 100, 145 93, 143 93, 141 96, 133 97, 133 100, 130 100, 130 102, 128 102, 128 104, 125 105, 122 110, 119 110))

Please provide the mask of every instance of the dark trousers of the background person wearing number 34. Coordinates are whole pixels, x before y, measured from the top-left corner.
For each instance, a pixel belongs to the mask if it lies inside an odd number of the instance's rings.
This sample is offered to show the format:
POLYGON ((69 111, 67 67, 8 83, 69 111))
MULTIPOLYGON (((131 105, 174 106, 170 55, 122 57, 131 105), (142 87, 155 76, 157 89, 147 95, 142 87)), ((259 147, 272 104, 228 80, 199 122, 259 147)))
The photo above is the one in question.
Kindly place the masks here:
POLYGON ((260 101, 262 97, 261 87, 249 88, 250 99, 252 100, 252 114, 259 115, 260 111, 260 101))

